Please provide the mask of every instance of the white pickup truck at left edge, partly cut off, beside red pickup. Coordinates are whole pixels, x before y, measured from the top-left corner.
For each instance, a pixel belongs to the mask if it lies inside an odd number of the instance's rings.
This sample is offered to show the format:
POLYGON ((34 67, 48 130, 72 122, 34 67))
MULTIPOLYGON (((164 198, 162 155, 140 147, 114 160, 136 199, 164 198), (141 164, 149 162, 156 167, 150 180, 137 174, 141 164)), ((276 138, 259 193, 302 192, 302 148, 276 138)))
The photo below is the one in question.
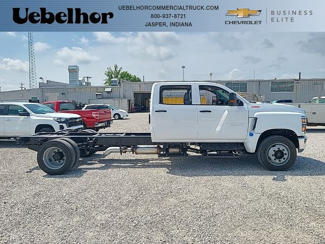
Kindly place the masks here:
POLYGON ((66 129, 82 130, 81 117, 77 114, 57 113, 38 103, 0 103, 0 137, 66 129))

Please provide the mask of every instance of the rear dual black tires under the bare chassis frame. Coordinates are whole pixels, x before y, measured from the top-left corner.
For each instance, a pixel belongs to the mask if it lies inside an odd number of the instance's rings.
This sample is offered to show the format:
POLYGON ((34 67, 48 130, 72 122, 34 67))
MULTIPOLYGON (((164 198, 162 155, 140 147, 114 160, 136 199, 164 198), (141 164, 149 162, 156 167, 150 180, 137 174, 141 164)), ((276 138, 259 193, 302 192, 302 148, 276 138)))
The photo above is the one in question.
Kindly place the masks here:
POLYGON ((68 141, 65 140, 54 139, 47 141, 40 147, 38 151, 37 162, 45 173, 51 175, 64 174, 76 162, 75 149, 68 141), (51 150, 53 150, 52 153, 51 150), (46 157, 47 155, 53 155, 53 153, 54 156, 49 156, 48 158, 46 157), (57 160, 54 159, 55 156, 58 157, 56 158, 57 160), (44 159, 45 157, 46 159, 44 159), (62 158, 62 161, 64 159, 64 162, 62 164, 53 163, 53 160, 60 163, 60 158, 62 158))

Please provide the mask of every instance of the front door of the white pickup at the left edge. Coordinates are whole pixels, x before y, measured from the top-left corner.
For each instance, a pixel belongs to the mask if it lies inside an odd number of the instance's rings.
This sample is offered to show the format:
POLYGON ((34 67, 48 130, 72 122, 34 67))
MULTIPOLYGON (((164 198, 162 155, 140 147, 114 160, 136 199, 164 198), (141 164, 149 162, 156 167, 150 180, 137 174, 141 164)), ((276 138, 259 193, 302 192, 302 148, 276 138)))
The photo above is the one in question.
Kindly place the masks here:
POLYGON ((30 116, 20 116, 20 112, 27 112, 19 105, 10 104, 7 115, 4 116, 6 135, 30 135, 30 116))

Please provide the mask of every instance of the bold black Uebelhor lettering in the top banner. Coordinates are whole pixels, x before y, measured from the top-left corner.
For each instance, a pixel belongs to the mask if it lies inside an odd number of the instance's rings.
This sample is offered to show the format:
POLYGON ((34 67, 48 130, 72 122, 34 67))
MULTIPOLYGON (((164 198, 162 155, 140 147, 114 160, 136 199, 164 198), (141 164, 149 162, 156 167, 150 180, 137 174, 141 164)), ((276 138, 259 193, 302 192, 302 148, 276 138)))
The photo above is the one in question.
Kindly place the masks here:
POLYGON ((81 12, 81 9, 67 8, 67 12, 58 12, 56 14, 52 12, 46 12, 46 8, 40 8, 39 12, 30 12, 28 14, 28 8, 25 8, 24 16, 20 16, 20 8, 13 8, 12 18, 17 24, 25 24, 29 21, 32 24, 52 24, 56 21, 59 24, 89 24, 89 21, 93 24, 108 24, 107 19, 113 18, 113 13, 96 13, 91 14, 81 12), (81 22, 82 17, 82 22, 81 22))

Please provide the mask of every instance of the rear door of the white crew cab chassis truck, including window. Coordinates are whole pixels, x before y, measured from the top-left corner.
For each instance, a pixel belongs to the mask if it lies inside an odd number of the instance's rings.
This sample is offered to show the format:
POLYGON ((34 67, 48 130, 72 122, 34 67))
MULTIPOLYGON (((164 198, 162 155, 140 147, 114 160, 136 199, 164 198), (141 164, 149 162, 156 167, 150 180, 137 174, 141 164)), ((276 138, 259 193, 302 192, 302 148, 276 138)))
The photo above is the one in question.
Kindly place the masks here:
POLYGON ((151 107, 151 124, 161 141, 196 140, 197 106, 193 104, 194 85, 157 85, 151 107))

